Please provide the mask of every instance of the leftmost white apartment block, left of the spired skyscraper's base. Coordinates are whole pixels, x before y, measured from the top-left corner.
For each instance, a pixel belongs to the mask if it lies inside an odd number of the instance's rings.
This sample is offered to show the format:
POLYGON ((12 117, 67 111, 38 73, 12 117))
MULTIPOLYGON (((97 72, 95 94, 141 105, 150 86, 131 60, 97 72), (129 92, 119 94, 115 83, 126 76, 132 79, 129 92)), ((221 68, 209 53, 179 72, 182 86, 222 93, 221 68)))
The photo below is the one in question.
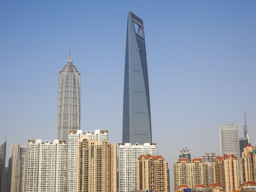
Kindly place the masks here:
POLYGON ((67 145, 28 140, 26 192, 66 192, 67 145))

